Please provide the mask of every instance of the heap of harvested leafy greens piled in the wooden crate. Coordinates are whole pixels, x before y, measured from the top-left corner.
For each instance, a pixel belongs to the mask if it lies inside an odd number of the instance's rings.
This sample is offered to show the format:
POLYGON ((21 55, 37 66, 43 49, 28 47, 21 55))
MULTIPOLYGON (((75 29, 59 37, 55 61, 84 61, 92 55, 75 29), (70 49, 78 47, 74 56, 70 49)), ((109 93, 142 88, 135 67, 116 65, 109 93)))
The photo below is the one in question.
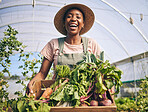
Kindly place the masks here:
POLYGON ((109 105, 106 92, 114 86, 114 94, 118 94, 122 85, 122 71, 111 66, 109 61, 103 62, 96 58, 94 54, 87 55, 72 70, 68 65, 57 65, 55 72, 56 81, 51 86, 54 92, 49 99, 51 106, 64 102, 74 107, 90 105, 92 100, 104 100, 107 102, 104 105, 109 105))

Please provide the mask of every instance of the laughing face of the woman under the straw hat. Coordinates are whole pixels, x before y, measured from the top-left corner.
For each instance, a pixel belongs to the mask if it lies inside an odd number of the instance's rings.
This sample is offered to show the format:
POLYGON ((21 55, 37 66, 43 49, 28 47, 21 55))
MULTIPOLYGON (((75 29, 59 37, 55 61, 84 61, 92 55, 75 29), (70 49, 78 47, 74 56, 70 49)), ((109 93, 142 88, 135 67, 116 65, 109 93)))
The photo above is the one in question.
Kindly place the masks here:
POLYGON ((84 27, 84 18, 81 11, 79 11, 78 9, 71 9, 70 11, 68 11, 65 17, 65 28, 67 34, 79 34, 82 27, 84 27))

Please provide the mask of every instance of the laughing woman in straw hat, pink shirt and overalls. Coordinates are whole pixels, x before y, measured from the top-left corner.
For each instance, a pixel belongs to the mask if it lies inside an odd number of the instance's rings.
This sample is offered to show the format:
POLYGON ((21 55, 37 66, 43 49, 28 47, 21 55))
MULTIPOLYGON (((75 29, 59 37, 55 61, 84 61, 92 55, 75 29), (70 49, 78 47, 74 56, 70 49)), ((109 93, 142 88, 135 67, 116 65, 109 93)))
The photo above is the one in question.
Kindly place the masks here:
MULTIPOLYGON (((56 29, 65 35, 63 38, 52 39, 42 49, 44 56, 39 73, 28 83, 26 93, 33 93, 32 86, 35 81, 46 78, 52 63, 68 64, 70 67, 81 61, 86 52, 100 55, 100 47, 91 38, 81 37, 90 30, 94 23, 93 11, 82 4, 70 4, 61 8, 54 18, 56 29)), ((53 79, 55 79, 55 75, 53 79)))

